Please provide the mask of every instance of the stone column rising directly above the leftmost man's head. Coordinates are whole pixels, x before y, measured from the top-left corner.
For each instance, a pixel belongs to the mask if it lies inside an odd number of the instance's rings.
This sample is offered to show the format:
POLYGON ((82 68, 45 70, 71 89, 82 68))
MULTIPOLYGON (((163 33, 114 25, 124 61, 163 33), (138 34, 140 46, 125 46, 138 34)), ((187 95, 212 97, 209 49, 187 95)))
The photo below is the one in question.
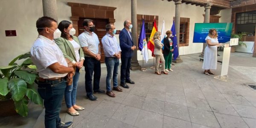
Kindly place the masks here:
POLYGON ((44 16, 52 17, 53 19, 57 20, 57 3, 56 0, 42 0, 43 1, 43 12, 44 16))

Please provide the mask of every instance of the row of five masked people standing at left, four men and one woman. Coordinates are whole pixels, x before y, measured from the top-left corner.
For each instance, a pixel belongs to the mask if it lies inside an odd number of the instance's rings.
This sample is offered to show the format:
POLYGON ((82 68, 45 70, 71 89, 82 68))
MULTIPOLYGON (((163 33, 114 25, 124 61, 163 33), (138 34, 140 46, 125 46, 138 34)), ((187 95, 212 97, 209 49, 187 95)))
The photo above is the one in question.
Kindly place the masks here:
POLYGON ((106 25, 107 33, 102 38, 107 66, 106 92, 99 88, 101 47, 99 38, 94 33, 93 20, 85 19, 83 26, 85 31, 76 37, 76 30, 67 20, 57 25, 53 18, 41 17, 36 22, 39 35, 31 48, 31 58, 39 74, 38 93, 44 99, 46 128, 69 128, 73 124, 61 122, 59 118, 63 96, 67 113, 78 116, 78 111, 84 110, 83 107, 76 105, 76 91, 82 66, 85 69, 87 98, 92 101, 98 99, 93 93, 106 93, 108 96, 116 97, 111 88, 112 77, 113 90, 122 92, 117 81, 120 58, 120 86, 129 88, 126 83, 135 84, 130 79, 131 57, 136 49, 131 38, 131 21, 124 22, 124 28, 119 34, 120 44, 114 36, 114 24, 106 25), (67 85, 67 81, 70 80, 71 83, 67 85))

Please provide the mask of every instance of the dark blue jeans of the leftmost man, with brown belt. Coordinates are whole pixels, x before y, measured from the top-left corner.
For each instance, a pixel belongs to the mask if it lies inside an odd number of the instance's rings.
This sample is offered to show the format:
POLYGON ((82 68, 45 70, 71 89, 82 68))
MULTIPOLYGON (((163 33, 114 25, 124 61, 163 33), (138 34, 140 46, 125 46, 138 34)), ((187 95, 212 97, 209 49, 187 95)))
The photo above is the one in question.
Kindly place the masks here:
POLYGON ((45 128, 56 128, 60 125, 59 113, 66 86, 66 79, 38 82, 38 93, 44 99, 45 128))

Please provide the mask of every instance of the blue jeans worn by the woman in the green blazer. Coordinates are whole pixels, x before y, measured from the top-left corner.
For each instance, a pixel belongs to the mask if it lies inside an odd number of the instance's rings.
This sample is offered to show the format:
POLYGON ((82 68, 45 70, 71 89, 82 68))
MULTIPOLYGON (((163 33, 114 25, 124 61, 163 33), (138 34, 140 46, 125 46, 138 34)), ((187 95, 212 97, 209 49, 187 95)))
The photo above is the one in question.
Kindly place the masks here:
POLYGON ((64 98, 67 108, 71 108, 73 105, 76 105, 76 90, 79 76, 79 68, 76 68, 76 73, 73 76, 73 83, 71 85, 68 85, 65 89, 64 98))

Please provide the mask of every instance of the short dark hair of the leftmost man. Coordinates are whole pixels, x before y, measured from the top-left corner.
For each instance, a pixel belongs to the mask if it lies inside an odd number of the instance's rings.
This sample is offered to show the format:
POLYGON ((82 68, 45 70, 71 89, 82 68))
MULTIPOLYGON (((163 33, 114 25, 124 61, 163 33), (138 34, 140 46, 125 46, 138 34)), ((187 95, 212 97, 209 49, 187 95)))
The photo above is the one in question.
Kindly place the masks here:
POLYGON ((36 28, 38 33, 42 32, 44 29, 41 28, 50 28, 52 27, 52 21, 56 22, 56 20, 54 20, 51 17, 40 17, 37 21, 36 21, 36 28))

